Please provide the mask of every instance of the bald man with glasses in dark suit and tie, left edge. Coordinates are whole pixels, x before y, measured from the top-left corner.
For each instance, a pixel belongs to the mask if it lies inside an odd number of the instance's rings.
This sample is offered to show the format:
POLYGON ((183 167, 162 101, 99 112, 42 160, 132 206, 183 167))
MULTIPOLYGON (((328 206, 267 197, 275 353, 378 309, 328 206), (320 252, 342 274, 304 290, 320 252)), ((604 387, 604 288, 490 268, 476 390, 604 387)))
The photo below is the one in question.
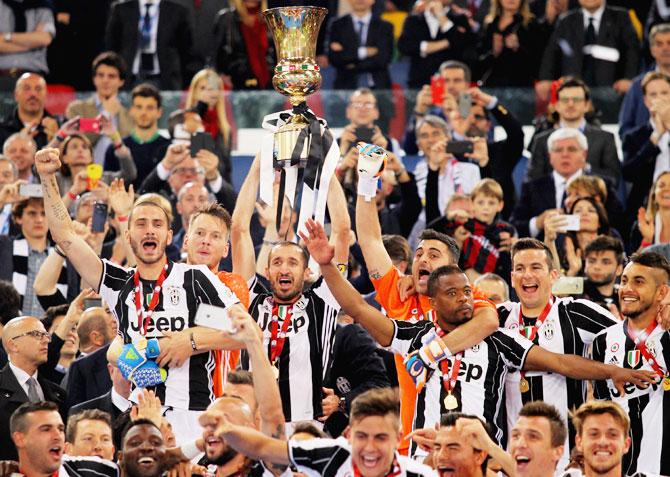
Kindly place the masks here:
POLYGON ((42 322, 32 316, 10 320, 2 330, 2 344, 9 363, 0 371, 0 460, 17 460, 11 440, 9 420, 12 413, 26 402, 52 401, 61 406, 65 391, 38 375, 37 368, 47 361, 51 336, 42 322))

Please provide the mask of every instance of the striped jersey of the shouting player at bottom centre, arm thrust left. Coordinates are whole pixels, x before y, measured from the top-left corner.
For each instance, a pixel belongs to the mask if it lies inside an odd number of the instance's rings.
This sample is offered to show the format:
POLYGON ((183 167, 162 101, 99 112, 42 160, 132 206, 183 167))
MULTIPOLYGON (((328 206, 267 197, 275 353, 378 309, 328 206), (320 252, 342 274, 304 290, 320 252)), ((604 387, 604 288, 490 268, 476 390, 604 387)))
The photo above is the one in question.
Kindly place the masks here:
MULTIPOLYGON (((301 472, 321 477, 354 477, 351 459, 351 445, 344 438, 310 439, 288 442, 289 459, 301 472)), ((399 473, 393 477, 437 477, 437 472, 427 465, 408 457, 398 455, 396 461, 399 473)))

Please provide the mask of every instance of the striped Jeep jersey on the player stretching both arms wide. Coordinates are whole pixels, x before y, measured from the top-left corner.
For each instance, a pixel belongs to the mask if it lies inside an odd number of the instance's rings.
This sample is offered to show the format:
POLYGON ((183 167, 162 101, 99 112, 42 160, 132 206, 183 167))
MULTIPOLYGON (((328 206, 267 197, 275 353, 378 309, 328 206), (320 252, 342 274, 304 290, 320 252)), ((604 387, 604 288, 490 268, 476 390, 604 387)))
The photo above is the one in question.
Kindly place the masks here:
MULTIPOLYGON (((391 320, 395 331, 391 349, 407 356, 437 337, 432 321, 416 323, 391 320)), ((458 401, 454 411, 474 414, 493 427, 500 442, 503 437, 504 409, 503 391, 505 376, 509 371, 521 369, 528 350, 533 344, 511 330, 499 329, 481 343, 465 350, 458 372, 453 395, 458 401)), ((449 358, 449 370, 454 358, 449 358)), ((447 391, 442 383, 442 372, 433 372, 416 399, 413 429, 433 428, 440 422, 440 415, 448 412, 444 405, 447 391)), ((423 452, 412 443, 410 455, 423 452)))

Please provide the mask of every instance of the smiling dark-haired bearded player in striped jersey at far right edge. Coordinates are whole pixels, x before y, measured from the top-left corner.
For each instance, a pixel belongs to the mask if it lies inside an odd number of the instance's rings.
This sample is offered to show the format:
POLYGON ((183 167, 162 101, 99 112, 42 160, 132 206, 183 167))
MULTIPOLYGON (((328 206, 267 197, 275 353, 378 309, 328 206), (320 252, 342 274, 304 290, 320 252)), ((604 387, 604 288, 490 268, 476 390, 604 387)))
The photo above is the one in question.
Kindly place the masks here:
POLYGON ((619 287, 624 320, 593 341, 593 359, 624 369, 649 370, 657 380, 648 387, 628 384, 623 393, 602 381, 594 386, 596 398, 611 399, 628 413, 630 432, 626 429, 624 437, 630 436, 632 445, 620 470, 626 475, 670 474, 670 431, 664 429, 670 413, 670 334, 656 320, 670 288, 669 277, 670 263, 662 255, 647 252, 630 257, 619 287))

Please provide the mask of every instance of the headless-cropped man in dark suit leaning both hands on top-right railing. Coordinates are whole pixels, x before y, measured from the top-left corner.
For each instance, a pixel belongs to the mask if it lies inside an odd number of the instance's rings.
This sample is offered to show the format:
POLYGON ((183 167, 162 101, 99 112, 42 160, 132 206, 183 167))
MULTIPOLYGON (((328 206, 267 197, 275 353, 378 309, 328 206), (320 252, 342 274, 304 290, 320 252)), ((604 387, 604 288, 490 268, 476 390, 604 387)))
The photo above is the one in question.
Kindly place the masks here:
POLYGON ((551 81, 568 75, 625 93, 637 74, 640 47, 628 11, 605 0, 579 4, 556 23, 542 57, 538 93, 546 97, 551 81))

